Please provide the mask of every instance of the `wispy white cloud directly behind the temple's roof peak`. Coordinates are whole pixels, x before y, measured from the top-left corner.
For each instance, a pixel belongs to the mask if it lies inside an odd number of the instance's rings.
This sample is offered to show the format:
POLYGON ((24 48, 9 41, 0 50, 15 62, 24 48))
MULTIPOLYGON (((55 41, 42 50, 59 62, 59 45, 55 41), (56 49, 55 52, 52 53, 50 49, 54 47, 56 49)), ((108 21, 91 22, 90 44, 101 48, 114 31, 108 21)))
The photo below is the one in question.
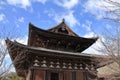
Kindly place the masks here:
POLYGON ((53 18, 57 23, 59 23, 63 18, 71 26, 80 25, 78 20, 74 16, 74 11, 68 10, 66 12, 57 13, 53 9, 50 11, 45 11, 49 17, 53 18))

